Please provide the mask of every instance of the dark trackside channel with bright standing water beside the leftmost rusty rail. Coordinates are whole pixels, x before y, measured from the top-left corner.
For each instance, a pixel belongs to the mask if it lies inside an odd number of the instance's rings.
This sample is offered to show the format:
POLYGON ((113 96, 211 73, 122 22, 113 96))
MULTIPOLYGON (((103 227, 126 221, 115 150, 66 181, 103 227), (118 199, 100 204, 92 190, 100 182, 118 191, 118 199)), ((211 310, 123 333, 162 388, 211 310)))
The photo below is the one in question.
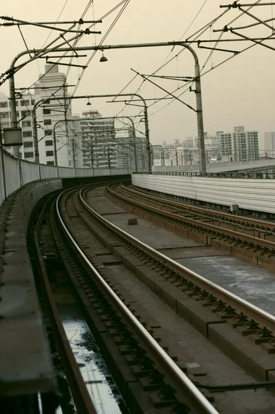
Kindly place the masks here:
MULTIPOLYGON (((113 377, 104 362, 104 358, 99 352, 95 338, 86 323, 77 298, 74 296, 73 290, 68 283, 68 275, 59 260, 48 218, 49 208, 46 210, 44 221, 39 229, 41 257, 44 261, 46 274, 48 275, 53 300, 57 306, 57 313, 61 319, 61 324, 63 325, 77 365, 79 366, 79 371, 84 379, 88 394, 91 396, 97 414, 128 414, 129 409, 126 407, 120 391, 118 391, 113 377)), ((32 245, 32 241, 30 245, 32 245)), ((32 247, 30 246, 30 249, 32 247)), ((44 308, 43 302, 44 300, 42 299, 42 308, 44 308)), ((46 308, 43 310, 44 319, 47 320, 48 311, 46 308)), ((47 323, 46 326, 48 326, 47 323)), ((49 333, 52 330, 50 326, 48 328, 47 331, 49 333)), ((70 396, 67 383, 61 384, 66 380, 63 368, 59 363, 60 360, 55 346, 55 339, 53 339, 53 335, 48 336, 48 338, 51 344, 53 362, 55 362, 55 370, 59 379, 60 406, 56 413, 72 414, 79 412, 75 407, 73 398, 70 396)))

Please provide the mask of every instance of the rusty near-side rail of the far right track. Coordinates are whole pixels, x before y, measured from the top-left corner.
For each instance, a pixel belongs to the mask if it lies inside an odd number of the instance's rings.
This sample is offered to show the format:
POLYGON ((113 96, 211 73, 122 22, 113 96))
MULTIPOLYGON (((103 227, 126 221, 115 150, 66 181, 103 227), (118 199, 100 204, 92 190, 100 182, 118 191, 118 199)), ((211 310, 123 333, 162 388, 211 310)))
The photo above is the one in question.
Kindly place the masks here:
POLYGON ((259 237, 247 235, 246 233, 239 233, 238 231, 230 230, 230 228, 225 228, 222 226, 215 226, 215 224, 207 224, 205 223, 205 221, 200 221, 200 219, 190 219, 189 217, 184 217, 176 213, 170 213, 169 211, 161 210, 160 208, 148 206, 148 204, 143 204, 143 203, 140 203, 139 201, 133 201, 131 199, 128 199, 127 197, 124 197, 123 195, 119 195, 115 193, 115 191, 111 190, 111 188, 109 188, 109 191, 113 193, 115 197, 124 199, 129 204, 140 206, 141 208, 148 208, 149 210, 152 210, 155 213, 158 213, 161 215, 167 215, 171 219, 186 221, 187 223, 193 226, 197 226, 197 227, 200 226, 202 228, 205 228, 206 230, 214 231, 215 233, 219 233, 219 234, 222 233, 224 235, 229 235, 229 237, 242 240, 243 242, 248 241, 254 244, 255 246, 261 246, 261 247, 269 248, 270 250, 275 250, 275 242, 270 242, 269 240, 266 240, 266 239, 260 239, 259 237))

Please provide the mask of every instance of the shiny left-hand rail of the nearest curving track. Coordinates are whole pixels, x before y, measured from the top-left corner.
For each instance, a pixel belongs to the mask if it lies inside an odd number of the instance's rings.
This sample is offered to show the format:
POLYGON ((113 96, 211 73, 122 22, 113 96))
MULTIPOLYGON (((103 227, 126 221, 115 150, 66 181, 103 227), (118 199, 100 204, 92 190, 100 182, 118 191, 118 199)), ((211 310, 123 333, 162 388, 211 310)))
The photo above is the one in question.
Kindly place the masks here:
MULTIPOLYGON (((149 334, 148 331, 142 326, 142 324, 138 321, 138 319, 129 311, 129 309, 126 307, 126 305, 122 302, 122 300, 115 294, 115 292, 112 290, 110 286, 105 282, 103 277, 99 275, 95 267, 91 264, 88 257, 84 254, 81 248, 77 245, 75 242, 75 239, 73 239, 72 235, 70 234, 68 228, 66 227, 66 224, 64 223, 61 213, 59 211, 59 200, 61 199, 61 196, 64 193, 61 193, 59 197, 57 197, 56 201, 56 210, 57 210, 57 217, 59 219, 59 223, 61 224, 62 228, 64 229, 64 232, 70 239, 70 242, 73 244, 75 250, 77 250, 77 253, 82 257, 84 260, 84 263, 88 268, 91 270, 93 275, 95 276, 97 282, 99 283, 99 286, 101 286, 105 293, 107 293, 109 299, 111 299, 111 302, 115 305, 116 308, 119 309, 120 313, 125 317, 126 321, 131 325, 131 328, 133 329, 133 332, 135 335, 137 335, 138 339, 140 339, 140 342, 145 344, 146 348, 149 349, 151 355, 153 355, 154 359, 157 360, 158 364, 164 368, 165 373, 169 375, 173 383, 176 385, 178 390, 180 390, 182 393, 184 393, 184 397, 187 398, 189 401, 189 404, 193 406, 196 410, 198 410, 201 414, 218 414, 218 411, 216 411, 216 408, 210 404, 210 402, 207 400, 207 398, 200 393, 198 388, 189 380, 187 375, 185 375, 182 370, 173 362, 173 359, 167 355, 167 353, 162 349, 162 347, 158 344, 158 342, 153 339, 153 337, 149 334)), ((90 206, 86 204, 86 201, 82 198, 81 191, 79 192, 79 199, 82 202, 84 206, 90 210, 90 206)), ((91 208, 91 210, 93 210, 91 208)), ((98 215, 98 213, 93 210, 93 213, 95 215, 98 215)), ((100 216, 101 217, 101 216, 100 216)))

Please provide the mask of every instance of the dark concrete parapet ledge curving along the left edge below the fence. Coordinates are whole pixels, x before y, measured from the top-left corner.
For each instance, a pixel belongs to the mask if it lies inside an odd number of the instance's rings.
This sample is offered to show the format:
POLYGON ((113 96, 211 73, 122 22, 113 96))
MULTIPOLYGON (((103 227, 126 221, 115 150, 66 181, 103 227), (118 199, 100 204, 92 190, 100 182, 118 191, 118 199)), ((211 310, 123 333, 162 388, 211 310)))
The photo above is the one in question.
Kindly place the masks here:
POLYGON ((61 179, 26 184, 0 207, 0 382, 2 395, 56 391, 55 374, 27 249, 37 202, 62 187, 61 179))

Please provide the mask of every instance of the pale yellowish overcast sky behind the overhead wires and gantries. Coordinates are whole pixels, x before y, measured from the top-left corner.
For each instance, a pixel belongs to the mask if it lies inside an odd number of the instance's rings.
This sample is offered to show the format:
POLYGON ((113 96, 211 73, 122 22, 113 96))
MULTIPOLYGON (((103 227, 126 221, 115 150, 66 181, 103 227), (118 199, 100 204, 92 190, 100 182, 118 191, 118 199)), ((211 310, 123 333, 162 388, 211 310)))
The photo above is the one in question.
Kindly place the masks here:
MULTIPOLYGON (((88 0, 13 0, 2 3, 1 15, 26 21, 56 21, 62 8, 66 5, 59 18, 60 21, 66 21, 79 19, 88 4, 88 0)), ((120 3, 118 0, 94 0, 84 19, 99 19, 117 6, 118 3, 120 3)), ((227 2, 222 2, 222 0, 131 0, 103 44, 185 40, 225 11, 225 9, 220 8, 220 4, 227 4, 227 2), (202 10, 200 10, 201 8, 202 10), (195 20, 193 21, 193 19, 195 20)), ((122 6, 109 14, 103 23, 97 24, 96 30, 101 30, 102 34, 96 36, 94 34, 86 35, 84 39, 79 41, 79 46, 97 45, 121 8, 122 6)), ((273 6, 273 9, 272 6, 254 7, 250 12, 256 14, 260 19, 272 19, 273 15, 275 17, 275 6, 273 6)), ((214 23, 213 29, 223 28, 227 24, 229 27, 236 28, 254 23, 251 17, 240 17, 240 14, 239 10, 229 10, 224 17, 214 23), (237 17, 236 21, 230 23, 237 17)), ((50 33, 49 30, 35 26, 21 26, 21 30, 30 49, 41 48, 50 33)), ((245 30, 238 29, 236 31, 248 37, 267 37, 272 34, 272 30, 264 26, 255 26, 245 30)), ((58 32, 50 34, 47 42, 57 37, 57 35, 58 32)), ((204 34, 200 34, 199 39, 218 39, 219 35, 220 32, 212 32, 211 28, 207 28, 204 34)), ((194 37, 191 39, 194 39, 194 37)), ((223 34, 222 39, 240 38, 227 33, 223 34)), ((16 26, 0 27, 0 44, 0 73, 2 73, 9 68, 15 55, 25 50, 26 46, 16 26)), ((267 44, 275 48, 275 41, 269 41, 267 44)), ((214 42, 212 45, 214 45, 214 42)), ((219 43, 218 48, 243 50, 249 45, 252 45, 252 43, 238 41, 219 43)), ((233 57, 227 63, 218 66, 218 63, 233 56, 233 54, 215 51, 209 57, 210 50, 198 49, 196 43, 193 44, 193 48, 198 53, 201 69, 209 58, 205 68, 202 69, 202 73, 207 70, 210 70, 210 72, 202 76, 201 79, 205 131, 210 135, 214 135, 217 130, 230 132, 234 126, 243 125, 246 130, 259 131, 260 149, 263 148, 263 132, 275 130, 275 50, 257 45, 233 57)), ((181 50, 182 48, 179 46, 173 52, 171 52, 171 47, 108 50, 104 52, 104 55, 108 58, 108 61, 104 63, 99 62, 102 52, 97 52, 85 70, 75 95, 119 93, 135 75, 131 68, 144 75, 150 75, 162 65, 168 56, 170 59, 181 50)), ((91 51, 87 52, 88 57, 91 56, 91 53, 91 51)), ((85 65, 88 57, 79 58, 79 60, 74 59, 73 63, 85 65)), ((22 63, 24 59, 26 57, 21 58, 19 63, 22 63)), ((62 61, 65 62, 68 59, 62 61)), ((171 63, 158 72, 158 75, 191 77, 194 74, 193 63, 191 53, 184 50, 178 55, 178 58, 173 59, 171 63)), ((61 69, 61 66, 59 66, 59 70, 66 73, 66 67, 61 69)), ((30 86, 37 80, 39 73, 43 72, 43 59, 28 64, 15 75, 16 86, 18 88, 30 86)), ((72 68, 68 75, 68 83, 76 84, 78 77, 78 68, 72 68)), ((170 92, 184 84, 182 81, 151 79, 170 92)), ((142 78, 136 77, 124 92, 137 92, 141 83, 142 78)), ((188 88, 189 85, 180 91, 183 92, 184 89, 188 88)), ((1 86, 0 91, 8 95, 8 82, 1 86)), ((73 92, 73 88, 70 88, 70 92, 73 92)), ((159 98, 166 95, 149 82, 143 83, 139 92, 144 99, 159 98)), ((178 91, 178 95, 179 93, 178 91)), ((193 92, 185 92, 180 99, 194 108, 196 107, 196 95, 193 92)), ((106 103, 106 99, 92 99, 91 103, 92 106, 89 108, 99 110, 103 117, 115 116, 124 108, 124 103, 106 103)), ((151 103, 153 101, 148 101, 148 104, 151 103)), ((168 100, 161 101, 149 108, 151 142, 162 144, 162 141, 165 140, 172 143, 174 139, 197 135, 196 113, 179 101, 173 101, 168 106, 167 103, 169 103, 168 100)), ((86 101, 77 99, 73 101, 73 113, 81 113, 86 108, 86 101)), ((128 106, 120 115, 138 115, 140 110, 140 107, 128 106)), ((138 125, 138 129, 144 130, 143 128, 144 124, 138 125)))

